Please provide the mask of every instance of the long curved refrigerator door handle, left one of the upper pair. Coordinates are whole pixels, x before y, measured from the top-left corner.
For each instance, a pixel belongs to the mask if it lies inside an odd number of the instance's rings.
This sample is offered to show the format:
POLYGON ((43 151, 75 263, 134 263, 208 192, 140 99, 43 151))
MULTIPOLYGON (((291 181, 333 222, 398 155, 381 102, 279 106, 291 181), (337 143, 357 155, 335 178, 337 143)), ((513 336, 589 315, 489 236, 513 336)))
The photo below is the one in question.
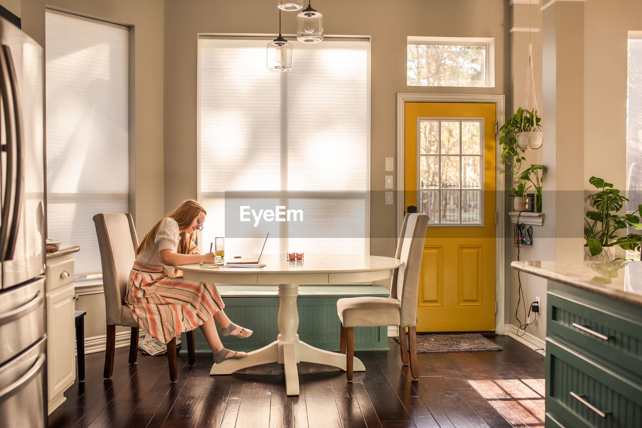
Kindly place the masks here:
POLYGON ((6 168, 4 170, 4 200, 2 203, 0 218, 0 261, 4 260, 6 244, 8 241, 9 213, 11 209, 11 194, 13 185, 13 105, 9 102, 10 87, 9 70, 6 64, 4 49, 0 49, 0 93, 2 94, 2 107, 4 110, 4 133, 6 134, 5 144, 2 151, 6 153, 6 168))

